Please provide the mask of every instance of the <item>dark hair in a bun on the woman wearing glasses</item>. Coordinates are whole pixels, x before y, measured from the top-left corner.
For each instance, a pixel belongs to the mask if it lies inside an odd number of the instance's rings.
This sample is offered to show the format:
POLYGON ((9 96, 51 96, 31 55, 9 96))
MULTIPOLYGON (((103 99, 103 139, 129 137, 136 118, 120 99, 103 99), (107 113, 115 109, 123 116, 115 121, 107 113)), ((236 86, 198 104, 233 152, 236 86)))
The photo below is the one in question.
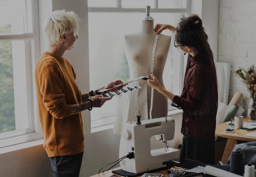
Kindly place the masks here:
POLYGON ((176 28, 175 42, 181 46, 192 46, 204 56, 213 55, 208 43, 208 35, 199 15, 191 14, 180 19, 176 28))

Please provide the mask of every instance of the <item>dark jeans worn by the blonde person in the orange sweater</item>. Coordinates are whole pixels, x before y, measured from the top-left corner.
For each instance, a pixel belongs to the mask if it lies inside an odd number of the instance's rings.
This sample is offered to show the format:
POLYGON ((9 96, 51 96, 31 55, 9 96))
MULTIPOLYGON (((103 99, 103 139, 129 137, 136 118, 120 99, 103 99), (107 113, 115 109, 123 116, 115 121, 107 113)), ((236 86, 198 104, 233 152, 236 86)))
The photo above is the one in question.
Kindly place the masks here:
POLYGON ((49 158, 52 166, 52 177, 79 177, 83 152, 49 158))

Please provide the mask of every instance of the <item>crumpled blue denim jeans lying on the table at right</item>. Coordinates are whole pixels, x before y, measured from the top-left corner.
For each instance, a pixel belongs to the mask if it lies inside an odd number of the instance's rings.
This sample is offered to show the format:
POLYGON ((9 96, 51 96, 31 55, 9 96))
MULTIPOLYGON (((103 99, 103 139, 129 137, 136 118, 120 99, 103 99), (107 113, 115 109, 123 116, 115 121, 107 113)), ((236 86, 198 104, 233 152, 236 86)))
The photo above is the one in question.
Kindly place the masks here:
MULTIPOLYGON (((247 164, 253 164, 254 166, 256 165, 256 142, 237 144, 232 151, 234 152, 236 150, 243 153, 244 166, 247 164)), ((229 156, 229 159, 225 165, 230 166, 230 159, 231 156, 229 156)))

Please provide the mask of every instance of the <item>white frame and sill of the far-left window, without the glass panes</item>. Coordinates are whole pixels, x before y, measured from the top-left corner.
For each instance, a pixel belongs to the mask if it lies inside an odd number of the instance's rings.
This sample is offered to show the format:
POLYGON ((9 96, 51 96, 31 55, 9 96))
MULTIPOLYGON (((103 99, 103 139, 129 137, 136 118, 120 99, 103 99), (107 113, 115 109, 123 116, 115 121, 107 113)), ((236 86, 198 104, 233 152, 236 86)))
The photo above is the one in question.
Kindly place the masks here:
MULTIPOLYGON (((0 133, 0 148, 34 141, 43 138, 43 133, 40 128, 38 119, 37 100, 36 100, 36 85, 35 85, 35 65, 36 58, 40 57, 40 42, 39 42, 39 11, 38 0, 31 0, 32 15, 32 30, 31 33, 22 34, 0 34, 0 40, 24 40, 26 53, 26 77, 27 77, 27 102, 28 102, 28 124, 29 127, 23 130, 8 131, 0 133)), ((26 11, 26 12, 27 12, 26 11)), ((13 71, 14 73, 15 71, 13 71)), ((17 92, 17 91, 14 91, 17 92)), ((16 120, 17 121, 17 120, 16 120)))

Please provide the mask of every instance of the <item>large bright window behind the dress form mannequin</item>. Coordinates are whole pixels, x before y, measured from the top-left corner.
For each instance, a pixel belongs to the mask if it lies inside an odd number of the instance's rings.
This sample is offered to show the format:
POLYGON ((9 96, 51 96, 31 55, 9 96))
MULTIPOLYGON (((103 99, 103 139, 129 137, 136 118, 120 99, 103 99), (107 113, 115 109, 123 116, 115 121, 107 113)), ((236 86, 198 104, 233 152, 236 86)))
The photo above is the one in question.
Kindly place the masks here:
MULTIPOLYGON (((140 31, 145 7, 150 5, 154 23, 177 25, 183 15, 190 13, 189 0, 88 0, 90 89, 130 78, 123 47, 125 34, 140 31)), ((168 52, 163 80, 168 91, 180 94, 183 85, 183 55, 173 46, 168 52), (173 84, 175 83, 175 84, 173 84)), ((91 132, 112 128, 120 96, 114 96, 101 108, 91 111, 91 132)), ((175 109, 169 101, 169 111, 175 109)))

